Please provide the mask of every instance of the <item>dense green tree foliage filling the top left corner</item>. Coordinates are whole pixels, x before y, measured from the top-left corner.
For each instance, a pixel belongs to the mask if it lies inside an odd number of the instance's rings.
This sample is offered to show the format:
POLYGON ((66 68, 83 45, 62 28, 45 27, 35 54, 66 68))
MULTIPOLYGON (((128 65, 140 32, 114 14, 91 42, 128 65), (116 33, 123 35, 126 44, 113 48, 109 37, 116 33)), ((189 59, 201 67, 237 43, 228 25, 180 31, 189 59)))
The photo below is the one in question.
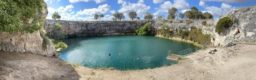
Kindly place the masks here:
POLYGON ((43 26, 43 0, 0 0, 0 32, 33 33, 43 26))

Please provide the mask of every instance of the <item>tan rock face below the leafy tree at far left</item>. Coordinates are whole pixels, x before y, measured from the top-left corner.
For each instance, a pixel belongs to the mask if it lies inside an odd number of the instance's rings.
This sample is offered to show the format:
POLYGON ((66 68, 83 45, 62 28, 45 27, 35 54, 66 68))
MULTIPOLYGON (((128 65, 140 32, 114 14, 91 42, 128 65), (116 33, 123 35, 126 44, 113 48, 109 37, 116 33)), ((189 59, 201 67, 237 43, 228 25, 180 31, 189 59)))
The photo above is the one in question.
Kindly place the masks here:
MULTIPOLYGON (((47 8, 43 12, 39 12, 39 14, 43 14, 45 18, 48 14, 47 8)), ((51 44, 51 40, 49 40, 45 50, 43 50, 42 43, 43 38, 41 38, 39 31, 35 31, 33 34, 0 32, 1 51, 32 52, 44 56, 58 56, 55 46, 51 44)))

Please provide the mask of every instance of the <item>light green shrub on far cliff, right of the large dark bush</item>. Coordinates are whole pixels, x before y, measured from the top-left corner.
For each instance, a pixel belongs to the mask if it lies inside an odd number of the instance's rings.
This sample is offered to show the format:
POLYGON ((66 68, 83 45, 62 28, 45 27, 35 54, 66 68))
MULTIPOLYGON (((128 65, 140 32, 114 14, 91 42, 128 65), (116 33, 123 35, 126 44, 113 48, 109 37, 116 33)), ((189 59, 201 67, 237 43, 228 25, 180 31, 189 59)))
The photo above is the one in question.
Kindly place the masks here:
POLYGON ((174 36, 174 29, 172 27, 167 26, 166 24, 162 25, 161 28, 158 30, 159 34, 165 38, 173 37, 174 36))

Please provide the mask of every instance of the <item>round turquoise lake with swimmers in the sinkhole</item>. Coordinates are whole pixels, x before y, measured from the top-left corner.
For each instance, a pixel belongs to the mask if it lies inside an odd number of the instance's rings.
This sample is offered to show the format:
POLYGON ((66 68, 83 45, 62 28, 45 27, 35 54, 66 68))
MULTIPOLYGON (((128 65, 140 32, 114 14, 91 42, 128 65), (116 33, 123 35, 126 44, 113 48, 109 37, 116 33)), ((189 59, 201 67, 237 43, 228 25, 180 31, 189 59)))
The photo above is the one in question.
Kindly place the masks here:
POLYGON ((117 70, 169 66, 176 61, 166 59, 168 50, 177 54, 181 50, 196 47, 193 44, 155 36, 135 35, 81 36, 67 38, 64 42, 68 47, 59 51, 59 57, 63 60, 90 68, 113 67, 117 70))

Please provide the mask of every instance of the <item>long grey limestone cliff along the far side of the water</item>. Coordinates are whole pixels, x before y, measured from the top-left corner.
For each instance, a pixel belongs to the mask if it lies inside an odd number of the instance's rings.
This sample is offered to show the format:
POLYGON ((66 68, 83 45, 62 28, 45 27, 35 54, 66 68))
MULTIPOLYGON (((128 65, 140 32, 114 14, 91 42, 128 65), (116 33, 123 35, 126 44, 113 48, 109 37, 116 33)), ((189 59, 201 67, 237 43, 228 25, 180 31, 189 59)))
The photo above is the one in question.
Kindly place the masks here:
MULTIPOLYGON (((138 20, 138 21, 65 21, 65 20, 45 20, 44 29, 51 32, 55 24, 61 24, 66 36, 79 35, 101 35, 109 33, 131 33, 134 34, 137 28, 142 27, 146 22, 150 22, 153 29, 152 34, 157 34, 157 30, 163 24, 170 27, 189 29, 191 26, 202 28, 201 22, 204 20, 138 20)), ((208 21, 208 20, 207 20, 208 21)), ((212 20, 209 20, 212 21, 212 20)))

